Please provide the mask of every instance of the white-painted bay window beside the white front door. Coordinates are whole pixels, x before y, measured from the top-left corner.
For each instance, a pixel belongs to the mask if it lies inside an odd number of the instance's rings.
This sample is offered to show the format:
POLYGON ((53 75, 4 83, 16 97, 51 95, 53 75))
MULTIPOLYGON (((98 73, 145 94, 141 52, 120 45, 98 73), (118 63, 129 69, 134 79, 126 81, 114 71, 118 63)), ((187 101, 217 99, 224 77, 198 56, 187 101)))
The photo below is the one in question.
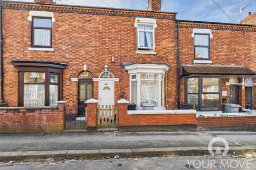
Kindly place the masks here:
POLYGON ((130 77, 130 103, 137 109, 154 106, 164 108, 164 75, 170 69, 168 64, 124 63, 130 77))

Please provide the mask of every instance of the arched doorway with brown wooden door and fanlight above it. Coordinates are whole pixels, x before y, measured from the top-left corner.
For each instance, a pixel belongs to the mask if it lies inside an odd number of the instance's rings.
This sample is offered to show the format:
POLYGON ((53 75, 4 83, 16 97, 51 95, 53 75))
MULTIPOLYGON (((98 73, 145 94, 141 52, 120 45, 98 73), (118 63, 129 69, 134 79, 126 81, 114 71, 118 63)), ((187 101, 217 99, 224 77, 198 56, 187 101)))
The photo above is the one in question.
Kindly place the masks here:
POLYGON ((83 71, 78 75, 78 114, 85 114, 85 101, 93 98, 93 75, 83 71))

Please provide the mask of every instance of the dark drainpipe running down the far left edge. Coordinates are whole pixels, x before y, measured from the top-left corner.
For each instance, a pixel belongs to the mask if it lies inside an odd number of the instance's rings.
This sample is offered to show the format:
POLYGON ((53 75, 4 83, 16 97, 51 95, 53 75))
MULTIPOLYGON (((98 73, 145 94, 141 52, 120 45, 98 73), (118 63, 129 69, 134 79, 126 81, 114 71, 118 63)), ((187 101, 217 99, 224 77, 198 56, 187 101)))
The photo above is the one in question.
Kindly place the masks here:
POLYGON ((3 66, 4 66, 4 63, 3 63, 3 44, 4 44, 4 40, 3 40, 3 1, 0 0, 0 15, 1 15, 1 18, 0 18, 0 33, 1 33, 1 36, 0 36, 0 42, 1 42, 1 56, 0 56, 0 60, 1 60, 1 103, 4 103, 4 69, 3 69, 3 66))

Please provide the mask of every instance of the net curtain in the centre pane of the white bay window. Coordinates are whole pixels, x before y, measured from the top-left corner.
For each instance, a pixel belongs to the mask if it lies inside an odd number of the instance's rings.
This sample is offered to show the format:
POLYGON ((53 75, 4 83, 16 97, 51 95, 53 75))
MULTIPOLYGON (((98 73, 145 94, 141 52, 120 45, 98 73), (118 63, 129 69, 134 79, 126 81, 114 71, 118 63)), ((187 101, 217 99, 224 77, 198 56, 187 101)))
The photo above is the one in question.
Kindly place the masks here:
POLYGON ((141 104, 150 103, 158 107, 158 81, 141 80, 141 104))

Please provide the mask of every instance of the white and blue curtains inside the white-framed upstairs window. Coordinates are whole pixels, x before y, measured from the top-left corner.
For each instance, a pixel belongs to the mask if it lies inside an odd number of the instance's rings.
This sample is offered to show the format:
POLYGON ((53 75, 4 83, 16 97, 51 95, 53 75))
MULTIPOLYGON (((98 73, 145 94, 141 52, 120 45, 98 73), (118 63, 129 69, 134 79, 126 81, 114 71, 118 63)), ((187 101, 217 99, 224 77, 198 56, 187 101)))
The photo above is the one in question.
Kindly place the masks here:
POLYGON ((153 31, 147 32, 143 30, 153 30, 153 25, 138 25, 140 47, 154 47, 153 31))

